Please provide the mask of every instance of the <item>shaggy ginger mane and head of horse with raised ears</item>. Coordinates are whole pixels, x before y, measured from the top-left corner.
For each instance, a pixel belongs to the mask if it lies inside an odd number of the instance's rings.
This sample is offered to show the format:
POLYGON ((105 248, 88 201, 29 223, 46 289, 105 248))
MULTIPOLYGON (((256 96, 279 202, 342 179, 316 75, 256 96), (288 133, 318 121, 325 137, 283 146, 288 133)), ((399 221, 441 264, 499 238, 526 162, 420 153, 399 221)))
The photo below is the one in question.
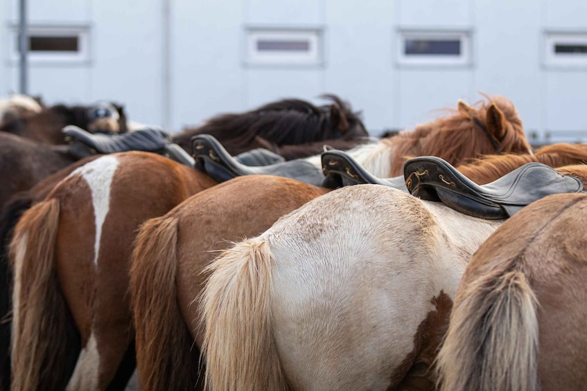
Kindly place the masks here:
MULTIPOLYGON (((505 116, 505 136, 498 140, 502 149, 511 149, 525 141, 523 123, 514 104, 502 96, 489 97, 487 102, 481 100, 473 104, 471 111, 444 109, 452 115, 438 118, 424 125, 418 125, 412 131, 401 131, 397 136, 386 139, 396 150, 393 166, 401 165, 408 155, 419 156, 419 151, 426 150, 432 156, 444 156, 453 164, 460 163, 460 156, 476 156, 495 151, 489 136, 475 124, 475 120, 486 123, 487 109, 495 104, 505 116)), ((528 145, 529 147, 529 145, 528 145)))

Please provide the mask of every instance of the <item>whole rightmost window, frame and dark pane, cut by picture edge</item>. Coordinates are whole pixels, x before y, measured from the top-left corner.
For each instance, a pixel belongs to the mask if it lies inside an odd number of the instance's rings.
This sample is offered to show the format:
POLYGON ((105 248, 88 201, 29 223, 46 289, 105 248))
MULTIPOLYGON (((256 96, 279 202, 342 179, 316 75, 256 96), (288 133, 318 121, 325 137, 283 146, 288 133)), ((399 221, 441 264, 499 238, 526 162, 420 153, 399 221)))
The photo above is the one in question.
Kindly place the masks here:
POLYGON ((547 66, 587 67, 587 33, 547 33, 547 66))

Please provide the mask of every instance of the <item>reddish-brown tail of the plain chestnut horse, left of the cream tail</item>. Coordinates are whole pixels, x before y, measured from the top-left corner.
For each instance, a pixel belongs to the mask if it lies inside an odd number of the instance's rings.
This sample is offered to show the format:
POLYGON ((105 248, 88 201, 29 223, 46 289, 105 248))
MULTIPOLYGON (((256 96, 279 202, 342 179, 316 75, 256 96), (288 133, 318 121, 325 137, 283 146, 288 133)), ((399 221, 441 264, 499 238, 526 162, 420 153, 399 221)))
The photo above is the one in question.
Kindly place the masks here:
POLYGON ((192 390, 198 352, 177 303, 177 217, 141 227, 132 253, 130 291, 142 390, 192 390))

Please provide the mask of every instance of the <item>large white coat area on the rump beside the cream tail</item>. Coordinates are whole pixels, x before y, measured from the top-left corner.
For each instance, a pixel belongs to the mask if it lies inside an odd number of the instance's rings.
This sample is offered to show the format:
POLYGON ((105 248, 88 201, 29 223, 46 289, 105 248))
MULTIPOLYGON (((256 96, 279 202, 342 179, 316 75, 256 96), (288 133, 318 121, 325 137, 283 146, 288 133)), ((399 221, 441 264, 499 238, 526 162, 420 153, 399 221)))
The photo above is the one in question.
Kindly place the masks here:
POLYGON ((282 217, 270 243, 272 324, 295 389, 385 390, 440 291, 502 221, 356 185, 282 217))

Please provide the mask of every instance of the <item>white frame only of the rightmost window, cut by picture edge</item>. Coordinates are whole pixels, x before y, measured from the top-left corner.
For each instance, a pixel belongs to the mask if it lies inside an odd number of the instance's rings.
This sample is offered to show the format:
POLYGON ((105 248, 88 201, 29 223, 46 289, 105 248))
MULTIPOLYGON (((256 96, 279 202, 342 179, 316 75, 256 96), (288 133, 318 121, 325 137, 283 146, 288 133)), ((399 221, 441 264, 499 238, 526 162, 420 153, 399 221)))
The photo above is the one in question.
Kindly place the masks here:
POLYGON ((544 64, 547 68, 587 68, 587 53, 579 56, 570 53, 556 53, 557 44, 587 46, 587 31, 568 33, 547 31, 544 37, 544 64))

